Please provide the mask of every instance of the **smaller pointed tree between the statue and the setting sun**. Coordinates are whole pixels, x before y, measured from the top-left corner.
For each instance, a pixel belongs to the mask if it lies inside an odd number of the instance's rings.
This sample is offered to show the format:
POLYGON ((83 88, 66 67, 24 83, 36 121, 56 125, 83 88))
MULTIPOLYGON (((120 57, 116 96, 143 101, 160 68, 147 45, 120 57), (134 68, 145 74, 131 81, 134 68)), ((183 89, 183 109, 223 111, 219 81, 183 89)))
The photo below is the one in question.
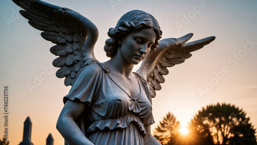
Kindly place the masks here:
POLYGON ((179 128, 179 121, 176 120, 172 113, 168 112, 166 117, 163 117, 163 120, 155 128, 154 137, 163 145, 169 144, 176 136, 179 128))

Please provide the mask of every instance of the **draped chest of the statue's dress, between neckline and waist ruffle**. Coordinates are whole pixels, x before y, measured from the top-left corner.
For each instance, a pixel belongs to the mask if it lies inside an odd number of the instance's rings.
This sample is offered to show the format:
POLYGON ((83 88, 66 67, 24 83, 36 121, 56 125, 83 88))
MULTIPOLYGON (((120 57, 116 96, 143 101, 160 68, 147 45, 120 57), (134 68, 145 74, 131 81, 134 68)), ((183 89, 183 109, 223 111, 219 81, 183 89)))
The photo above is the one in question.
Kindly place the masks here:
POLYGON ((142 87, 137 89, 139 89, 138 96, 131 97, 114 81, 106 80, 95 107, 101 108, 102 116, 106 118, 116 118, 130 114, 140 116, 144 113, 148 114, 146 110, 151 113, 151 103, 144 90, 142 87))

